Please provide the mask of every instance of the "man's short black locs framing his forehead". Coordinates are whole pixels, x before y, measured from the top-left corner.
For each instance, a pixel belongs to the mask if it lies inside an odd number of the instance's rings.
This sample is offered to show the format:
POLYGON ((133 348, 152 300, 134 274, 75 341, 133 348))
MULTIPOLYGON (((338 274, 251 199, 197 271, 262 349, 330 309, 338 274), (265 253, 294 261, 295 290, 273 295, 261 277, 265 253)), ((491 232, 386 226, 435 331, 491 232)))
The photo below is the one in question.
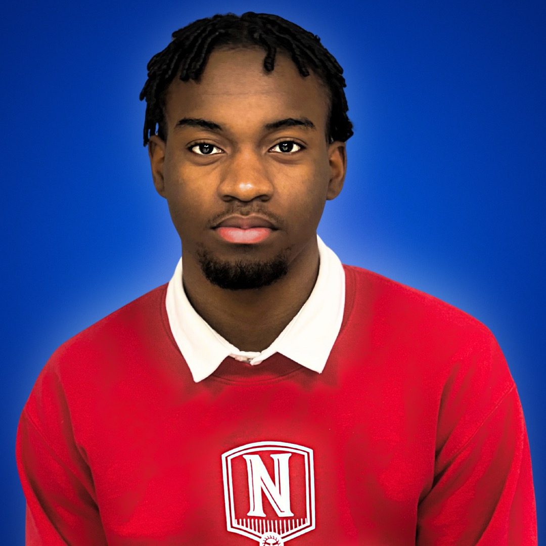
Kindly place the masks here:
POLYGON ((264 70, 275 68, 277 50, 286 52, 301 76, 310 70, 328 90, 330 110, 327 140, 345 142, 353 134, 353 124, 347 117, 346 87, 343 69, 334 56, 321 44, 321 39, 304 28, 266 13, 248 11, 241 16, 233 13, 199 19, 173 32, 171 43, 148 63, 148 79, 140 92, 146 99, 144 145, 157 134, 165 140, 165 92, 176 75, 182 81, 199 81, 209 55, 220 46, 260 47, 265 50, 264 70))

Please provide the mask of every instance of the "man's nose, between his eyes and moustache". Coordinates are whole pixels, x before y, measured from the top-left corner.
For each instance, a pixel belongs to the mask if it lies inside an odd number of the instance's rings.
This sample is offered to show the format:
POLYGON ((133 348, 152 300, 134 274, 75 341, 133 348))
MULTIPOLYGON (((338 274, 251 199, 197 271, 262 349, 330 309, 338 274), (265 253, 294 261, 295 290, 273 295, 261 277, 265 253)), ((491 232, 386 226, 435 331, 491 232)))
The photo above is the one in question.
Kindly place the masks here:
POLYGON ((253 150, 233 153, 225 162, 218 195, 223 201, 269 201, 273 195, 273 184, 266 171, 265 161, 253 150))

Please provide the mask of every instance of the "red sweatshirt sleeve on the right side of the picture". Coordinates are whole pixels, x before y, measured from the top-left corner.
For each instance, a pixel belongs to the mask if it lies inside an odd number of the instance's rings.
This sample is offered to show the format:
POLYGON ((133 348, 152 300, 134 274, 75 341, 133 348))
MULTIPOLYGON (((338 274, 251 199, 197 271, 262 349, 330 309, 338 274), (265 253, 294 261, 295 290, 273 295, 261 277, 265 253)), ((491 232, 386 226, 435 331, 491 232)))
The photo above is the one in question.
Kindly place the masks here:
MULTIPOLYGON (((431 489, 419 503, 419 546, 537 544, 531 457, 518 391, 494 337, 484 345, 489 349, 474 355, 475 367, 459 370, 454 381, 459 384, 447 396, 444 413, 452 424, 437 446, 431 489)), ((440 419, 440 435, 442 426, 440 419)))

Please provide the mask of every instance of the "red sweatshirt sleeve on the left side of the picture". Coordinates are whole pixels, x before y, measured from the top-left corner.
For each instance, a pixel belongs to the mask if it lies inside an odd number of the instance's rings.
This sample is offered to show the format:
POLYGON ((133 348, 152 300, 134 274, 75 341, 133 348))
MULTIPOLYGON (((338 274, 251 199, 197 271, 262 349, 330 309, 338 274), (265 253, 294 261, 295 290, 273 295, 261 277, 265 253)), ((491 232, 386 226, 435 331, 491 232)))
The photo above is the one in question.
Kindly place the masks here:
POLYGON ((74 440, 60 382, 47 366, 21 414, 16 459, 27 546, 106 544, 91 470, 74 440))

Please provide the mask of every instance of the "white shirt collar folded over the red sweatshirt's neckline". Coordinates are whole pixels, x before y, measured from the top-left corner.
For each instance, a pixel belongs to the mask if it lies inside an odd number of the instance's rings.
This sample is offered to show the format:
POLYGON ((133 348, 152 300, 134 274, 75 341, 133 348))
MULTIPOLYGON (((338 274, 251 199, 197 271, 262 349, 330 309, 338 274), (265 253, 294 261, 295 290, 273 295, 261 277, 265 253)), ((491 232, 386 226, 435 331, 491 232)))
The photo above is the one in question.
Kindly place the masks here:
POLYGON ((311 295, 277 339, 262 352, 239 351, 195 311, 182 285, 182 258, 167 287, 165 305, 170 329, 197 383, 227 357, 259 364, 281 353, 321 373, 339 334, 345 308, 345 271, 340 259, 317 235, 320 265, 311 295))

